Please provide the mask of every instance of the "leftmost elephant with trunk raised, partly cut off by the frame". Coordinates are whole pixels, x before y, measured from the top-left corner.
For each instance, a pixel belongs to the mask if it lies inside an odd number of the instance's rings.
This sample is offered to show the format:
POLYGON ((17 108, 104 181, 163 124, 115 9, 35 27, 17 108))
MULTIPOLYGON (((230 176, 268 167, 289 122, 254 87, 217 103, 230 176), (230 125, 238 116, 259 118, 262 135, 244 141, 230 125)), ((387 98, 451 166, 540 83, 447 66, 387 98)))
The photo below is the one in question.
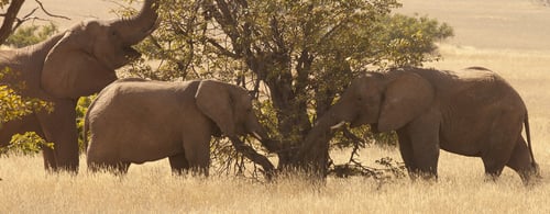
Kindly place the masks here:
POLYGON ((155 29, 157 8, 154 0, 145 0, 134 16, 86 21, 40 44, 1 50, 0 69, 8 67, 18 75, 0 83, 24 82, 22 95, 52 102, 54 111, 2 124, 0 147, 16 133, 36 132, 54 143, 54 149, 43 148, 46 169, 78 171, 77 99, 99 92, 117 79, 117 68, 140 57, 131 46, 155 29))

